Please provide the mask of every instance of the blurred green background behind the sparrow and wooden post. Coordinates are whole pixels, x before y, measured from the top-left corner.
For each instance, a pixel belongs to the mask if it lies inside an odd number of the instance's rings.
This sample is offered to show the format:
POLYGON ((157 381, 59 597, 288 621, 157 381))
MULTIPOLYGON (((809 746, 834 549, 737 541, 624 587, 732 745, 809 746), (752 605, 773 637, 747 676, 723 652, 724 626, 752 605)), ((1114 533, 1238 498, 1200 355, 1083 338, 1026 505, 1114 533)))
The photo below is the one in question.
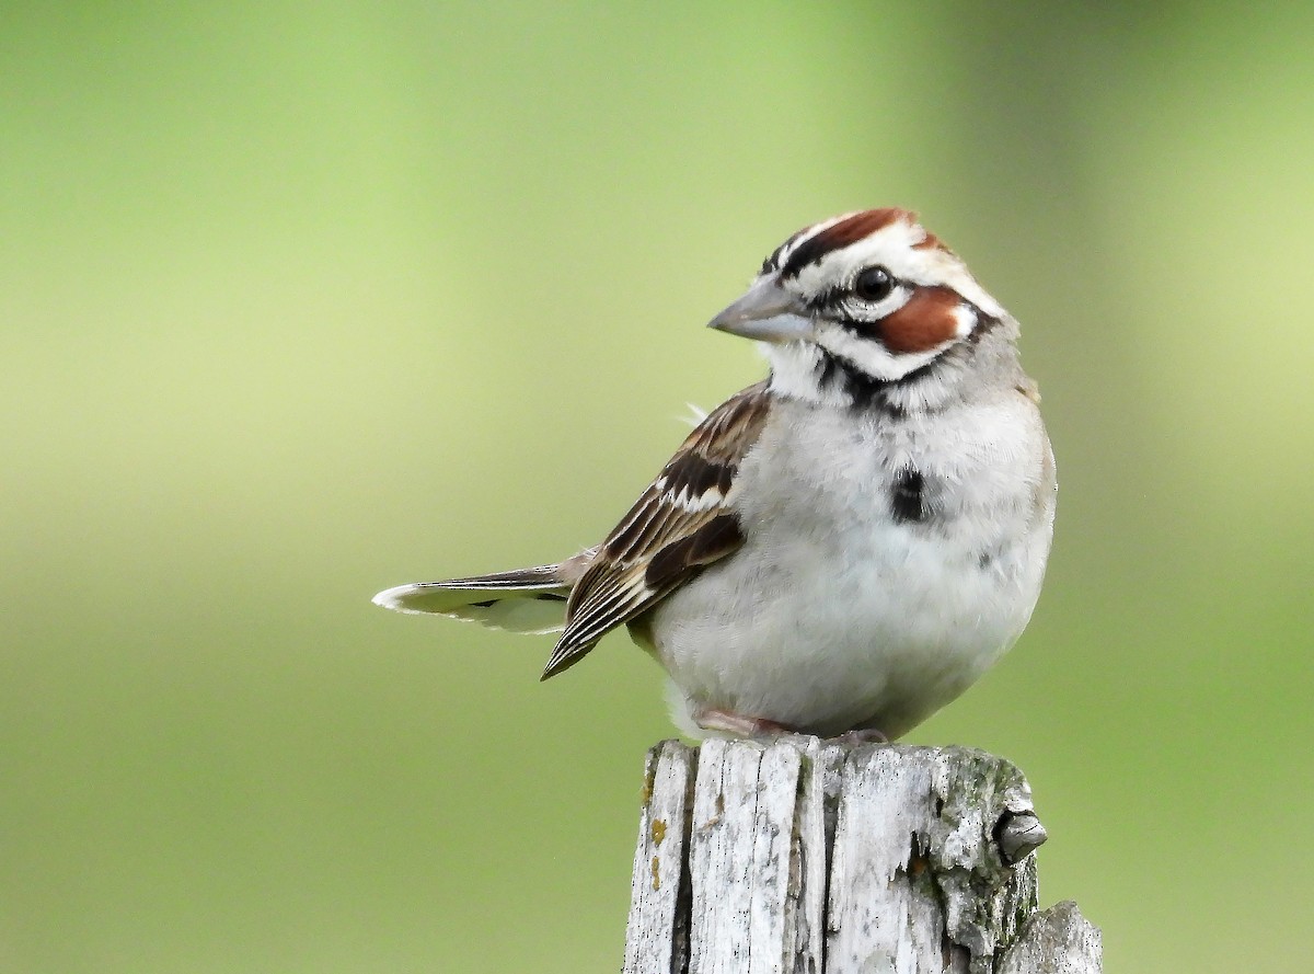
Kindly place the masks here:
POLYGON ((1109 970, 1300 970, 1314 7, 8 3, 0 970, 620 962, 657 668, 377 589, 610 527, 702 325, 918 209, 1062 480, 1003 753, 1109 970))

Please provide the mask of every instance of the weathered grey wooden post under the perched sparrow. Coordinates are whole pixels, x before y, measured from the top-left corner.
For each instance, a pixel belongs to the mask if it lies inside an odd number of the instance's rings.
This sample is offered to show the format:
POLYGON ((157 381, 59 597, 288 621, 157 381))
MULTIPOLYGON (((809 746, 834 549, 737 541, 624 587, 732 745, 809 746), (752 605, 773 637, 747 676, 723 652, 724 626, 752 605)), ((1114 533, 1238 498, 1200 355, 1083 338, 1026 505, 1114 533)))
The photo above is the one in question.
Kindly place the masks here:
POLYGON ((968 748, 664 741, 648 753, 624 974, 1097 974, 1037 910, 1022 774, 968 748))

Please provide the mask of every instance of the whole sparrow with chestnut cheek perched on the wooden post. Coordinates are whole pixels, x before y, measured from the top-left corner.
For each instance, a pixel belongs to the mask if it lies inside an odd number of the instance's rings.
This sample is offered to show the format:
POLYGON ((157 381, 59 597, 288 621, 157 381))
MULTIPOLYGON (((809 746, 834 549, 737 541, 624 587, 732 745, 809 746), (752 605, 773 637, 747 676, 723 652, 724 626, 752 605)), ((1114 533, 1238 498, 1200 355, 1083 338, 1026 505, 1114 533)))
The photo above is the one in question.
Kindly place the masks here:
POLYGON ((767 377, 698 423, 600 544, 374 602, 560 632, 543 680, 624 624, 694 737, 895 740, 1039 597, 1058 481, 1018 323, 890 206, 788 237, 710 327, 757 342, 767 377))

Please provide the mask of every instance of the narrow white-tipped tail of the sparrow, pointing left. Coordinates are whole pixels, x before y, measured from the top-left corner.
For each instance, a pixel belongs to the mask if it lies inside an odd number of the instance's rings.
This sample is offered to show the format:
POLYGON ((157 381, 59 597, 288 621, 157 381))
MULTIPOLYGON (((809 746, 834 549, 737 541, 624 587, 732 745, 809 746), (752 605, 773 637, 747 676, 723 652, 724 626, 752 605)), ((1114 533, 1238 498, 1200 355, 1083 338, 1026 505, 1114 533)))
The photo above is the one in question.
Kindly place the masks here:
POLYGON ((566 624, 570 586, 578 577, 578 572, 572 570, 574 561, 445 582, 398 585, 374 595, 374 605, 398 613, 480 622, 509 632, 560 632, 566 624))

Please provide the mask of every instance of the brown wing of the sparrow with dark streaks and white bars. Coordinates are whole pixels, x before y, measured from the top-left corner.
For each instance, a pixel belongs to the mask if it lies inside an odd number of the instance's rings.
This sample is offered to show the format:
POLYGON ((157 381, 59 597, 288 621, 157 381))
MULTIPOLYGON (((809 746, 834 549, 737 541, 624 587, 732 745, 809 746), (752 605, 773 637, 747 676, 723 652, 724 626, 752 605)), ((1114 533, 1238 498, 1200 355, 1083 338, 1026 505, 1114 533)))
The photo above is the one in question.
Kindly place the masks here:
POLYGON ((689 435, 620 519, 570 591, 566 628, 543 678, 583 659, 608 630, 652 609, 744 543, 727 507, 740 461, 767 411, 766 383, 727 400, 689 435))

